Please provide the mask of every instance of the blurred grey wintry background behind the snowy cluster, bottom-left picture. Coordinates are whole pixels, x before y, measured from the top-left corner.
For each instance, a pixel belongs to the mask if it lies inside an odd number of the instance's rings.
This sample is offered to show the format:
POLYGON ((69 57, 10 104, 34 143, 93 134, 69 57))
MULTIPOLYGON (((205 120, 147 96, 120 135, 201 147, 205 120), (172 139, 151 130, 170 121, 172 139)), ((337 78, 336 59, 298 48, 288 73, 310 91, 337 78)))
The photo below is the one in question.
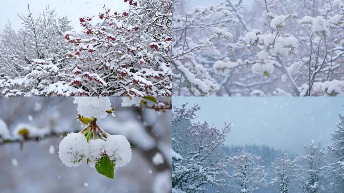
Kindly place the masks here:
POLYGON ((132 146, 132 160, 115 168, 114 180, 86 163, 69 168, 60 161, 58 144, 64 136, 59 133, 84 127, 76 120, 73 98, 0 99, 0 119, 11 135, 23 123, 54 133, 24 141, 22 148, 19 142, 0 142, 0 192, 170 192, 171 111, 121 107, 121 98, 110 99, 116 116, 108 115, 97 124, 110 134, 124 135, 132 146))

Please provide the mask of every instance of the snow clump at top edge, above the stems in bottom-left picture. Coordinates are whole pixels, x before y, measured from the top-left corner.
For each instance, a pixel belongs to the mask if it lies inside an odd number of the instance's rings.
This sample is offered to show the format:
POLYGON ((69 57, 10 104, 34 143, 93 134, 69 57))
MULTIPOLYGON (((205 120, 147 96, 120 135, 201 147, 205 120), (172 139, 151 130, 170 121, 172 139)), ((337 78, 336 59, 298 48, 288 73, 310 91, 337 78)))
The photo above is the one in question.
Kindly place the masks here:
POLYGON ((111 109, 110 99, 108 97, 75 97, 73 103, 77 104, 77 111, 84 117, 105 118, 111 109))

